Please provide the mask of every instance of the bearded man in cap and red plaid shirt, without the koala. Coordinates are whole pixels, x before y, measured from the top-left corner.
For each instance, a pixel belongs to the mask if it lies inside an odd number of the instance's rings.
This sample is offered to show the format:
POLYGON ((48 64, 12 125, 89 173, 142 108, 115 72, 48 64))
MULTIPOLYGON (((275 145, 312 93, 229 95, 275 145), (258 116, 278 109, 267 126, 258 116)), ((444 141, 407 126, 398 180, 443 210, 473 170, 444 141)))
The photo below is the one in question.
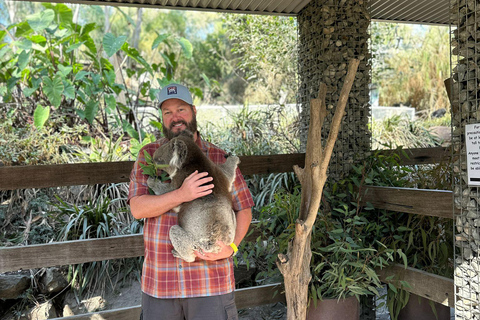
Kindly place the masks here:
POLYGON ((148 176, 140 164, 146 164, 144 151, 155 150, 180 132, 188 129, 195 143, 214 163, 225 162, 225 151, 204 141, 197 130, 197 109, 185 86, 170 84, 158 95, 162 111, 164 138, 143 147, 130 174, 128 202, 136 219, 145 219, 145 261, 142 271, 142 314, 144 320, 237 319, 235 279, 232 256, 237 252, 252 220, 253 200, 237 168, 232 190, 237 227, 233 243, 218 243, 218 253, 196 252, 197 259, 188 263, 175 258, 168 238, 170 227, 177 224, 178 205, 212 192, 215 187, 206 172, 194 172, 182 186, 162 194, 150 194, 148 176))

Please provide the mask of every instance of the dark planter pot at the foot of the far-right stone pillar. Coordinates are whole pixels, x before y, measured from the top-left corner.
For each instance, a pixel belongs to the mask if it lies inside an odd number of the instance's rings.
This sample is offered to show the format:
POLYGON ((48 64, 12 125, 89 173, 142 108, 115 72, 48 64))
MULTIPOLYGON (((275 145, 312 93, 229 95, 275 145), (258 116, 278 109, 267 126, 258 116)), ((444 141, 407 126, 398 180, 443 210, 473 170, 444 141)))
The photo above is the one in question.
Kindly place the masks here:
POLYGON ((443 304, 434 302, 438 318, 435 317, 432 307, 427 299, 415 294, 410 294, 407 305, 403 308, 398 320, 450 320, 450 308, 443 304))

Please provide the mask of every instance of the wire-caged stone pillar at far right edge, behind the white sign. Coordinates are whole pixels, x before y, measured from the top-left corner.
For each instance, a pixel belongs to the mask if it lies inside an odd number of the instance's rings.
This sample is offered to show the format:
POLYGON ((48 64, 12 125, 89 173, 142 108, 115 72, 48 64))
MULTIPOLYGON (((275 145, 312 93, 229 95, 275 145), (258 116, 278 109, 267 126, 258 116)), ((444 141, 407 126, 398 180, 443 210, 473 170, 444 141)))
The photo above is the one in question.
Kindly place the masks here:
POLYGON ((468 186, 465 126, 480 123, 480 2, 452 0, 455 319, 480 319, 480 190, 468 186))

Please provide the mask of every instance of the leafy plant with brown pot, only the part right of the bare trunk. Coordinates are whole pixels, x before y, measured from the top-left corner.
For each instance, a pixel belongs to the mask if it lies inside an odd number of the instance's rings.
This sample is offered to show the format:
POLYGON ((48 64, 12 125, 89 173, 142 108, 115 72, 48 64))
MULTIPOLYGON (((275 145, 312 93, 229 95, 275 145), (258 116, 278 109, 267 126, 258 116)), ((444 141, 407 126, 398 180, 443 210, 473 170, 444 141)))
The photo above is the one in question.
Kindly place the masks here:
POLYGON ((308 319, 358 319, 361 297, 379 296, 375 271, 403 252, 382 243, 382 221, 360 205, 355 175, 325 192, 312 233, 311 306, 308 319), (338 310, 341 314, 334 314, 338 310))

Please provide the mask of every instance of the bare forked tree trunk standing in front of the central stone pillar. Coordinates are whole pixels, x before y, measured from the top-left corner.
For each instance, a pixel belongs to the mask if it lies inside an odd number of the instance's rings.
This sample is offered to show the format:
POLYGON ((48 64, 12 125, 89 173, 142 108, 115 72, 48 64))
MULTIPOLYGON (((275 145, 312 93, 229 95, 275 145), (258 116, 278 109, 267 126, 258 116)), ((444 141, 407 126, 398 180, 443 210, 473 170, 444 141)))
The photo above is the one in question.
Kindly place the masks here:
POLYGON ((330 133, 322 149, 321 132, 327 115, 325 97, 327 88, 320 84, 319 96, 310 103, 310 125, 307 138, 305 168, 294 167, 302 186, 300 214, 295 225, 295 237, 288 244, 287 254, 279 254, 277 266, 284 277, 287 299, 287 319, 301 320, 307 317, 308 284, 312 278, 310 239, 317 217, 323 187, 327 180, 327 168, 337 140, 347 105, 348 95, 360 61, 352 59, 332 119, 330 133))

